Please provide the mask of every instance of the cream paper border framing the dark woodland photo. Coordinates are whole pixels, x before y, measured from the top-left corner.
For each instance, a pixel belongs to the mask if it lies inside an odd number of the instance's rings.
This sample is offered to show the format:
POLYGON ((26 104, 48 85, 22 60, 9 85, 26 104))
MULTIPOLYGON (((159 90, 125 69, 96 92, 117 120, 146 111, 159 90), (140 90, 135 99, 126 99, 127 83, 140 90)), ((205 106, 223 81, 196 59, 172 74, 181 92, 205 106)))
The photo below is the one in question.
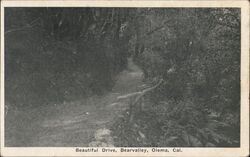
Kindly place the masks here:
MULTIPOLYGON (((249 2, 248 1, 2 1, 1 2, 1 156, 248 156, 249 2), (241 8, 241 147, 181 148, 176 153, 77 153, 75 147, 4 147, 4 7, 237 7, 241 8)), ((116 148, 119 150, 119 148, 116 148)), ((172 150, 173 148, 169 148, 172 150)), ((150 151, 151 149, 148 148, 150 151)), ((101 151, 101 148, 99 148, 101 151)))

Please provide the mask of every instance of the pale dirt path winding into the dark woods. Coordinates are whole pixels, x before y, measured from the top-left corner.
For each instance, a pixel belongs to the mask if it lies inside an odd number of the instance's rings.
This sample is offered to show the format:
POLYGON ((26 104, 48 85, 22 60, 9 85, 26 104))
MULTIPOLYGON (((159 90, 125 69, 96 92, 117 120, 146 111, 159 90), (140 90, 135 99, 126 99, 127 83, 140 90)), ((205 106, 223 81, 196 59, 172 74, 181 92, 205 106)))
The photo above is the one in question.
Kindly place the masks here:
POLYGON ((128 70, 117 77, 112 92, 103 96, 9 109, 5 146, 112 146, 109 127, 128 107, 126 102, 117 102, 117 97, 137 91, 142 85, 142 71, 131 59, 128 61, 128 70))

